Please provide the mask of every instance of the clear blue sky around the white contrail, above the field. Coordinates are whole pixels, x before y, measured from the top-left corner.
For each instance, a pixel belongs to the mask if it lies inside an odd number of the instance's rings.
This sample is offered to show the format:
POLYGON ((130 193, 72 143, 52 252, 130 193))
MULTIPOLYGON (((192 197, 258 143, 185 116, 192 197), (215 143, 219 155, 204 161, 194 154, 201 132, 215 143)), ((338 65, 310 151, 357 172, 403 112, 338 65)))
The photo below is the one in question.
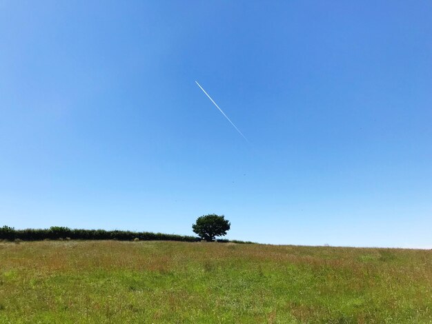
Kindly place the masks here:
POLYGON ((0 1, 0 225, 432 247, 430 1, 0 1), (206 89, 251 142, 240 136, 206 89))

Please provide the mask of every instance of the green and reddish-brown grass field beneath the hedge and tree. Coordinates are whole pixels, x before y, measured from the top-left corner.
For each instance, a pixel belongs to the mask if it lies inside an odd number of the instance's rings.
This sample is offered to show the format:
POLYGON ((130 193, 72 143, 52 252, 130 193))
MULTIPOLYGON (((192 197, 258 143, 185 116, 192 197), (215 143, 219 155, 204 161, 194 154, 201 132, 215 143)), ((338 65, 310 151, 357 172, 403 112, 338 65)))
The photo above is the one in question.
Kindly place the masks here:
POLYGON ((432 323, 432 251, 3 242, 0 323, 432 323))

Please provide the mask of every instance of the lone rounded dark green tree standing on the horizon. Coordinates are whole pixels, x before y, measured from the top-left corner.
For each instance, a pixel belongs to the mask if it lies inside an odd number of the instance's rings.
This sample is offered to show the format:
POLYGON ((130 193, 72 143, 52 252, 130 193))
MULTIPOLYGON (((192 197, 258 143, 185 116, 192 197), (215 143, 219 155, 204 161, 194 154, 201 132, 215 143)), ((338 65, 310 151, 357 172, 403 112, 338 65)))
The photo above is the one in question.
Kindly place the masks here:
POLYGON ((211 242, 215 239, 215 236, 226 235, 226 231, 230 229, 230 226, 230 222, 225 219, 224 215, 208 214, 198 217, 196 223, 192 225, 192 230, 202 239, 211 242))

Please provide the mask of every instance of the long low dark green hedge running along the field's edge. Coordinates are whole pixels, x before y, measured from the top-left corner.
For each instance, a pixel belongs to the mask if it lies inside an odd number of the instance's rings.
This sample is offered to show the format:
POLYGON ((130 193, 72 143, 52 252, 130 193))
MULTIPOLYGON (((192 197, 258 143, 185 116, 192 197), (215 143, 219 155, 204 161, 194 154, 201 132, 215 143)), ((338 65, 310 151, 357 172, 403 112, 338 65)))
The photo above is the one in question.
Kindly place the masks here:
MULTIPOLYGON (((8 241, 42 241, 42 240, 118 240, 118 241, 183 241, 199 242, 197 236, 163 234, 152 232, 131 232, 120 230, 80 230, 69 227, 52 226, 46 229, 15 230, 14 227, 0 227, 0 240, 8 241)), ((229 241, 226 239, 217 240, 221 243, 252 243, 244 241, 229 241)))

